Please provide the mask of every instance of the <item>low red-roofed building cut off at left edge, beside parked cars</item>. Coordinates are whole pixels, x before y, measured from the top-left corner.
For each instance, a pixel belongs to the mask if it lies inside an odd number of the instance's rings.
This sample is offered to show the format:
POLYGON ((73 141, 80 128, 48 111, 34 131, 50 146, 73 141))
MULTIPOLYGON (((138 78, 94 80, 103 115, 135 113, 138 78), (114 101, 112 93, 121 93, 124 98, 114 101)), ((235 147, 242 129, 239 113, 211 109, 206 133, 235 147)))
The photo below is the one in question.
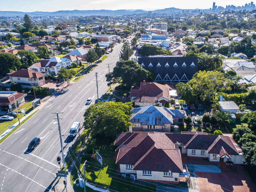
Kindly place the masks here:
POLYGON ((27 93, 19 93, 16 91, 0 91, 0 111, 11 112, 15 109, 15 101, 17 107, 25 102, 24 97, 27 93))

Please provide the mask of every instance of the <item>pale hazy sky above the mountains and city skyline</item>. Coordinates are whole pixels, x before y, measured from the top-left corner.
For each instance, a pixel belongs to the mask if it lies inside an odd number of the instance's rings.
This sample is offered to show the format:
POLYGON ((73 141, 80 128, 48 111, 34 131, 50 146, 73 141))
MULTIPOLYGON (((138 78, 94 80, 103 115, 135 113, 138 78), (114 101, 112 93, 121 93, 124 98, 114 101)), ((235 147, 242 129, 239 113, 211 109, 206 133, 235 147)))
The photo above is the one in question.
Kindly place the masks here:
MULTIPOLYGON (((60 10, 118 10, 118 9, 144 9, 156 10, 175 7, 179 9, 209 9, 212 3, 226 7, 226 5, 242 6, 251 1, 243 0, 0 0, 0 11, 48 11, 60 10)), ((255 4, 256 2, 254 2, 255 4)))

